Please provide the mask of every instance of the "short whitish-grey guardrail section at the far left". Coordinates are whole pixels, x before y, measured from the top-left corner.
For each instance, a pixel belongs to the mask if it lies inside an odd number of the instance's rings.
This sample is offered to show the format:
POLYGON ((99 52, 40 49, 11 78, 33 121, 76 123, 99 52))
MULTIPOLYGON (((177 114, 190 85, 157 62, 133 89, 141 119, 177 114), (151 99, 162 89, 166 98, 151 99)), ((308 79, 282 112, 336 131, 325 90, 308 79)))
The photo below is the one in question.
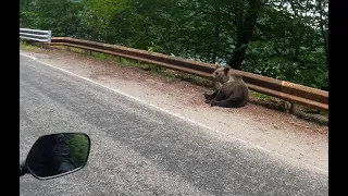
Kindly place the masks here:
POLYGON ((20 28, 20 38, 51 44, 51 30, 20 28))

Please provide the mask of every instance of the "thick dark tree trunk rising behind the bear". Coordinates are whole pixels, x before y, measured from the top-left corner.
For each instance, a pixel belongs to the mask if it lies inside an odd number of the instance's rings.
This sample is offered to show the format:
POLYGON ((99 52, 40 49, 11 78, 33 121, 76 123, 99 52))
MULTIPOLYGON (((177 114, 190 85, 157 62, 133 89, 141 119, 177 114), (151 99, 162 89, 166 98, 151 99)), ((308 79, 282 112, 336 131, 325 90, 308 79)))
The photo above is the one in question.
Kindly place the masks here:
POLYGON ((249 9, 243 25, 238 27, 237 45, 228 63, 232 69, 240 70, 248 45, 252 38, 260 9, 260 0, 249 0, 249 9))

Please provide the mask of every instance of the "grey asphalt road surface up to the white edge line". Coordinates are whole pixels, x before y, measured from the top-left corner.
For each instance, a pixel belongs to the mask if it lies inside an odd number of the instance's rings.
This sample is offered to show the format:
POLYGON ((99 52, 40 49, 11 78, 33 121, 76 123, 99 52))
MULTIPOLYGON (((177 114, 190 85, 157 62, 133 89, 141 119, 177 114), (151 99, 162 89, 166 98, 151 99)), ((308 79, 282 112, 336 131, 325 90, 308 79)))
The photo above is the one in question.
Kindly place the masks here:
POLYGON ((328 195, 327 173, 186 122, 21 56, 21 160, 41 135, 85 132, 86 168, 21 195, 328 195))

